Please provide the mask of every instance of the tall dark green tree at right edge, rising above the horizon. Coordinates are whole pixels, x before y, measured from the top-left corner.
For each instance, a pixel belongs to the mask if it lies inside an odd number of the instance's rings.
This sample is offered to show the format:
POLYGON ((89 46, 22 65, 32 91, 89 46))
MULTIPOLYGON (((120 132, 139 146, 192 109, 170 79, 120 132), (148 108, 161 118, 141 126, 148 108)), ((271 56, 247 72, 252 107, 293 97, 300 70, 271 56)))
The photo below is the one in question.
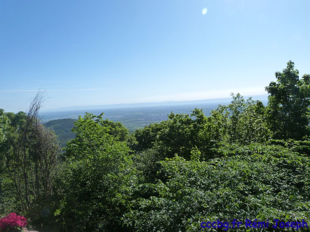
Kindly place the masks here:
POLYGON ((267 118, 275 139, 301 140, 309 135, 310 75, 299 79, 294 62, 287 62, 282 72, 275 73, 277 82, 270 82, 267 118))

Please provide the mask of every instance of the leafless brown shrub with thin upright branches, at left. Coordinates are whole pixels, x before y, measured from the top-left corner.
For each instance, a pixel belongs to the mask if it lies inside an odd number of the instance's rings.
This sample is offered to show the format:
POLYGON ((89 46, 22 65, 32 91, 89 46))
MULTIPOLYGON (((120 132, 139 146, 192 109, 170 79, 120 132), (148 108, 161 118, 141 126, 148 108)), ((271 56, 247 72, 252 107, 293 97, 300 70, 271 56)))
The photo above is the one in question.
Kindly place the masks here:
POLYGON ((45 92, 32 99, 26 122, 7 154, 8 173, 24 212, 32 212, 47 203, 55 191, 61 192, 55 184, 62 167, 57 137, 40 123, 38 115, 45 99, 45 92))

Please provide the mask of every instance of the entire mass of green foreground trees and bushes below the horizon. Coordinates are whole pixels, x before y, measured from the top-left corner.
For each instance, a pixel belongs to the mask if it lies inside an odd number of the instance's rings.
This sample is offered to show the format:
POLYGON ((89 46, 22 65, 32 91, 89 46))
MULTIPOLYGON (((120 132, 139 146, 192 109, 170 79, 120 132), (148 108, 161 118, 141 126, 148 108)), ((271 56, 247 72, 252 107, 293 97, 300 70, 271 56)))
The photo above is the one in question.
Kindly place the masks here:
POLYGON ((86 113, 65 153, 49 129, 63 121, 38 119, 42 94, 27 113, 1 110, 0 216, 40 232, 282 230, 274 220, 307 231, 296 225, 310 226, 310 75, 289 61, 276 78, 267 106, 232 94, 210 116, 171 112, 132 134, 86 113), (255 219, 269 227, 245 226, 255 219))

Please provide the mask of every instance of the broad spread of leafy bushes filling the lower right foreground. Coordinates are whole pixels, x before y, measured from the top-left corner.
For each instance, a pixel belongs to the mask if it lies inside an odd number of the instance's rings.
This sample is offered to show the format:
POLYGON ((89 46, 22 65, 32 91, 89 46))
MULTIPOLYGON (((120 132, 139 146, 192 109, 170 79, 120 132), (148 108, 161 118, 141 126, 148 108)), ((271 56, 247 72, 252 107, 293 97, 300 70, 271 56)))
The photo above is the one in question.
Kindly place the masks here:
POLYGON ((309 158, 263 144, 218 152, 223 157, 208 162, 162 161, 161 180, 149 186, 153 196, 133 201, 123 217, 128 230, 201 231, 202 221, 235 218, 310 220, 309 158))

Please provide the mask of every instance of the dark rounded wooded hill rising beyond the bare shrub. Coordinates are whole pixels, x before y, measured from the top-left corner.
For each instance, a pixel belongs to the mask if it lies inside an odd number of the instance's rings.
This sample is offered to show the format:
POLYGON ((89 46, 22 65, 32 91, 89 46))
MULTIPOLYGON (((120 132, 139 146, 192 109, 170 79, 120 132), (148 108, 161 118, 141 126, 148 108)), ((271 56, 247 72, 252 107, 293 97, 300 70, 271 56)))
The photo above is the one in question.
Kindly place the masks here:
POLYGON ((71 132, 75 121, 76 119, 72 118, 56 119, 46 122, 43 125, 55 131, 60 142, 60 148, 64 148, 69 140, 75 138, 75 134, 71 132))

